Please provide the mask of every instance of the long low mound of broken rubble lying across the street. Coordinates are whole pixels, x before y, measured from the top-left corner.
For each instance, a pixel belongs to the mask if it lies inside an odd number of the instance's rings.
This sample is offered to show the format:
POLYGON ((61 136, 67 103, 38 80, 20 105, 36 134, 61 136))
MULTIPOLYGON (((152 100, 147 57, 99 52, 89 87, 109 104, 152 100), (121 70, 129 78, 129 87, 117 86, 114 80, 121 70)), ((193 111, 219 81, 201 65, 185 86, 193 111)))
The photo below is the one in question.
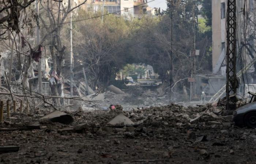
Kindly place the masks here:
MULTIPOLYGON (((126 135, 127 133, 123 132, 131 132, 131 129, 134 130, 136 127, 153 129, 165 128, 166 126, 198 128, 209 125, 211 128, 215 128, 223 123, 222 117, 219 117, 222 110, 213 105, 185 108, 172 104, 171 106, 138 108, 130 111, 124 111, 120 105, 114 106, 113 110, 109 108, 108 111, 85 112, 81 108, 76 111, 65 111, 65 113, 54 111, 41 117, 38 121, 32 122, 28 120, 36 119, 26 118, 23 124, 20 124, 20 119, 17 119, 18 115, 16 115, 16 117, 11 117, 1 124, 0 130, 51 129, 61 133, 83 132, 101 135, 110 132, 109 135, 113 135, 118 132, 120 135, 126 135), (57 123, 49 124, 49 121, 57 123), (60 126, 60 123, 63 125, 60 126)), ((133 134, 131 133, 131 135, 133 134)))

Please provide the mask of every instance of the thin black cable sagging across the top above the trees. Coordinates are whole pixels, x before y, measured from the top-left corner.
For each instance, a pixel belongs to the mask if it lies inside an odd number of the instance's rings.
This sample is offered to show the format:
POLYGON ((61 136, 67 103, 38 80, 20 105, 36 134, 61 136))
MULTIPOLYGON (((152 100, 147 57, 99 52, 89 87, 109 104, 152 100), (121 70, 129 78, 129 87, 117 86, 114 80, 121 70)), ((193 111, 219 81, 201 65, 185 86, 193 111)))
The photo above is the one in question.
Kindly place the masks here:
MULTIPOLYGON (((146 3, 142 3, 142 4, 139 4, 139 5, 130 7, 130 8, 128 8, 128 9, 135 8, 135 7, 138 7, 138 6, 141 6, 141 5, 144 5, 144 4, 153 2, 153 1, 155 1, 155 0, 151 0, 151 1, 148 1, 148 2, 146 2, 146 3)), ((120 10, 120 11, 115 11, 115 12, 112 12, 112 13, 107 13, 107 14, 103 14, 103 15, 99 15, 99 16, 94 16, 94 17, 89 17, 89 18, 84 18, 84 19, 79 19, 79 20, 74 20, 74 21, 68 21, 68 22, 63 22, 63 23, 57 23, 57 24, 54 24, 54 25, 60 25, 60 24, 67 24, 67 23, 80 22, 80 21, 83 21, 83 20, 89 20, 89 19, 94 19, 94 18, 106 16, 106 15, 111 15, 111 14, 118 13, 118 12, 125 11, 125 10, 127 10, 127 9, 123 9, 123 10, 120 10)), ((35 27, 46 27, 46 26, 53 26, 53 25, 47 24, 47 25, 43 25, 43 26, 32 26, 32 27, 23 27, 23 28, 35 28, 35 27)))

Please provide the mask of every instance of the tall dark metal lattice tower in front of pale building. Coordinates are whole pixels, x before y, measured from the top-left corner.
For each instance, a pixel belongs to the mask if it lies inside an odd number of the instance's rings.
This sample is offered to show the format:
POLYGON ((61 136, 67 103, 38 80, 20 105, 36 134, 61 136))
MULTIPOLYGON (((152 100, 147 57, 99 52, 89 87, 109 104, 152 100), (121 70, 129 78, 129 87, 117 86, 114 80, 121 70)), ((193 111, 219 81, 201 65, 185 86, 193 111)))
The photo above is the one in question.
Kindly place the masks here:
POLYGON ((226 51, 226 109, 229 109, 230 96, 237 93, 236 77, 236 0, 227 0, 227 51, 226 51))

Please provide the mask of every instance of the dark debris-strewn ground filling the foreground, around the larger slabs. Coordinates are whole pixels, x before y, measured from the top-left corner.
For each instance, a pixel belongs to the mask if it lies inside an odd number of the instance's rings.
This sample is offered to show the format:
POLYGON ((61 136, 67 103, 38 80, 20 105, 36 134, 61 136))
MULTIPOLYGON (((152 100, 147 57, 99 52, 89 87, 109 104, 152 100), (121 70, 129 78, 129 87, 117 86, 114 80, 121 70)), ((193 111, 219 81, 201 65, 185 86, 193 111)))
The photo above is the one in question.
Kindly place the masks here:
MULTIPOLYGON (((256 130, 238 128, 223 118, 204 114, 209 106, 173 105, 123 112, 135 128, 109 128, 117 112, 69 112, 72 125, 42 121, 39 130, 0 132, 0 145, 18 152, 0 154, 0 163, 255 163, 256 130), (86 123, 83 133, 58 129, 86 123)), ((13 116, 17 117, 17 116, 13 116)), ((1 127, 21 127, 31 120, 8 120, 1 127)))

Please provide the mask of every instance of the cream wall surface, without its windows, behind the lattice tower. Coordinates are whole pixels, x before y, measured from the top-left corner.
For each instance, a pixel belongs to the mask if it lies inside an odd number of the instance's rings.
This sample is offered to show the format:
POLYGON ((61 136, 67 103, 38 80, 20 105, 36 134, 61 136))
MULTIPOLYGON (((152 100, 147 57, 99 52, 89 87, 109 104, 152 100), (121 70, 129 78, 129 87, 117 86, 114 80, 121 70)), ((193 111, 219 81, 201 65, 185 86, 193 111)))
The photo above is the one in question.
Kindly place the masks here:
MULTIPOLYGON (((244 38, 244 15, 243 15, 243 8, 244 8, 244 2, 245 0, 239 0, 237 1, 237 46, 241 46, 241 42, 244 38)), ((255 20, 255 5, 256 0, 248 0, 246 7, 246 11, 248 12, 248 16, 255 20)), ((226 52, 226 13, 227 12, 227 0, 212 0, 212 68, 216 66, 219 57, 222 52, 222 48, 225 48, 226 52), (222 15, 222 3, 225 3, 225 18, 223 18, 222 15), (225 43, 225 44, 223 44, 225 43)), ((246 21, 246 20, 245 20, 246 21)), ((255 21, 254 21, 255 22, 255 21)), ((251 26, 246 27, 246 38, 249 38, 249 33, 252 30, 255 31, 255 28, 251 28, 251 26)), ((255 42, 255 41, 254 41, 255 42)), ((255 45, 255 43, 252 43, 255 45)), ((237 48, 239 50, 239 48, 237 48)), ((247 50, 246 50, 247 51, 247 50)), ((248 53, 244 51, 244 49, 241 50, 241 52, 237 52, 238 55, 244 56, 246 53, 246 64, 248 64, 251 61, 251 57, 248 56, 248 53), (239 54, 241 53, 241 54, 239 54)), ((223 62, 225 65, 225 61, 223 62)), ((222 72, 225 74, 225 66, 221 68, 222 72)))

